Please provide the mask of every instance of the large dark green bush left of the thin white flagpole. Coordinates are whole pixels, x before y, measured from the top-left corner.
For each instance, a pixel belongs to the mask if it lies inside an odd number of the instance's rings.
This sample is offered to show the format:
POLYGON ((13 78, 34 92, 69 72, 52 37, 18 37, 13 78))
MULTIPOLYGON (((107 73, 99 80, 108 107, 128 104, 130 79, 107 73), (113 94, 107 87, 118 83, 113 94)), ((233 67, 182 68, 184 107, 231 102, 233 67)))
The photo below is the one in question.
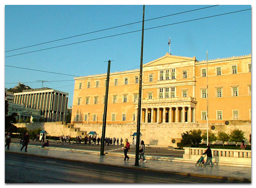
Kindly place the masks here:
POLYGON ((181 134, 181 137, 182 137, 181 144, 183 146, 191 146, 192 144, 198 145, 202 141, 200 129, 190 130, 189 132, 186 131, 185 133, 181 134))

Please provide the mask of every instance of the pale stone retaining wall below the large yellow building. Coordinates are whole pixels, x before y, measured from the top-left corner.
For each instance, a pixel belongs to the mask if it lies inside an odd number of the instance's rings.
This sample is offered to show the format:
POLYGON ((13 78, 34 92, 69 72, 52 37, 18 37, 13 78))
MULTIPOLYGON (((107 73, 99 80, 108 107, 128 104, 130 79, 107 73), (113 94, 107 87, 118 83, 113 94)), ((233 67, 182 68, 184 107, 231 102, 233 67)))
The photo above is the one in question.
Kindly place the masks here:
MULTIPOLYGON (((65 124, 65 122, 45 122, 45 123, 17 123, 17 127, 27 127, 29 130, 41 128, 45 130, 49 136, 70 135, 76 137, 82 135, 84 137, 90 131, 95 131, 98 136, 102 134, 102 124, 99 123, 75 123, 65 124)), ((251 122, 234 120, 230 121, 228 125, 224 123, 209 124, 209 132, 217 135, 219 130, 225 131, 227 134, 234 129, 240 129, 245 133, 245 143, 249 143, 249 135, 251 134, 251 122), (212 127, 214 126, 214 127, 212 127), (214 128, 214 130, 212 130, 214 128)), ((202 133, 207 131, 206 123, 141 123, 140 132, 141 139, 145 144, 157 146, 173 146, 181 140, 181 134, 193 129, 200 129, 202 133)), ((124 140, 128 138, 129 142, 133 141, 133 134, 136 133, 136 123, 113 123, 106 125, 106 137, 119 138, 124 140)), ((135 142, 135 140, 134 140, 135 142)), ((218 144, 222 142, 217 141, 218 144)))

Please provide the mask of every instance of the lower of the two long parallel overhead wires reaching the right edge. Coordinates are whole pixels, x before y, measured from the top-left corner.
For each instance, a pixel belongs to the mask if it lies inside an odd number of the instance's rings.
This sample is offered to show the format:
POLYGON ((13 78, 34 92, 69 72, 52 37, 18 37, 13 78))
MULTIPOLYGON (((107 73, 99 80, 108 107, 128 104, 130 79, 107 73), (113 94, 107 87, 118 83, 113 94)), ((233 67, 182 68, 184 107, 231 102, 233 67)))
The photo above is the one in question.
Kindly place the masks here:
MULTIPOLYGON (((213 17, 217 17, 217 16, 223 16, 223 15, 233 14, 233 13, 242 12, 242 11, 247 11, 247 10, 251 10, 251 8, 245 9, 245 10, 239 10, 239 11, 235 11, 235 12, 229 12, 229 13, 224 13, 224 14, 218 14, 218 15, 214 15, 214 16, 208 16, 208 17, 204 17, 204 18, 191 19, 191 20, 187 20, 187 21, 182 21, 182 22, 177 22, 177 23, 172 23, 172 24, 167 24, 167 25, 152 27, 152 28, 148 28, 148 29, 144 29, 144 30, 156 29, 156 28, 160 28, 160 27, 166 27, 166 26, 170 26, 170 25, 175 25, 175 24, 180 24, 180 23, 186 23, 186 22, 196 21, 196 20, 200 20, 200 19, 213 18, 213 17)), ((99 39, 105 39, 105 38, 109 38, 109 37, 115 37, 115 36, 119 36, 119 35, 134 33, 134 32, 138 32, 138 31, 141 31, 141 29, 140 29, 140 30, 135 30, 135 31, 126 32, 126 33, 120 33, 120 34, 116 34, 116 35, 110 35, 110 36, 106 36, 106 37, 100 37, 100 38, 96 38, 96 39, 91 39, 91 40, 87 40, 87 41, 80 41, 80 42, 65 44, 65 45, 61 45, 61 46, 55 46, 55 47, 51 47, 51 48, 45 48, 45 49, 41 49, 41 50, 35 50, 35 51, 31 51, 31 52, 26 52, 26 53, 19 53, 19 54, 16 54, 16 55, 9 55, 9 56, 6 56, 6 57, 13 57, 13 56, 23 55, 23 54, 27 54, 27 53, 40 52, 40 51, 49 50, 49 49, 54 49, 54 48, 59 48, 59 47, 63 47, 63 46, 69 46, 69 45, 73 45, 73 44, 79 44, 79 43, 83 43, 83 42, 95 41, 95 40, 99 40, 99 39)))

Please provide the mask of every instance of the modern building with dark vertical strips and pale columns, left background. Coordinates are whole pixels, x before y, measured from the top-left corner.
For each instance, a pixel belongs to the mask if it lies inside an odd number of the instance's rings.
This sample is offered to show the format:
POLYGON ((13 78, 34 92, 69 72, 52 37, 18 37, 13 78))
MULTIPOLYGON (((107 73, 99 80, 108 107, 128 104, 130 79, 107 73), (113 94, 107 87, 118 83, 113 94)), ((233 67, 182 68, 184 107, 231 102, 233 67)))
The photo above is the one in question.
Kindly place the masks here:
POLYGON ((37 109, 44 116, 44 122, 66 121, 69 93, 51 88, 38 88, 14 93, 13 102, 25 108, 37 109))

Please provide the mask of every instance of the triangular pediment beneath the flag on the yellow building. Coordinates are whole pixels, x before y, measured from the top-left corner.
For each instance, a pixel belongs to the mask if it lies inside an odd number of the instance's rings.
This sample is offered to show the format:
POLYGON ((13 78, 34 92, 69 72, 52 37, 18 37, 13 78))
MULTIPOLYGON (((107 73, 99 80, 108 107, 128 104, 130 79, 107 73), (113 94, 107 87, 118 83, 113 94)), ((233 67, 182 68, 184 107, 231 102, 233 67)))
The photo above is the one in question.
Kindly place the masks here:
POLYGON ((160 57, 149 63, 146 63, 143 65, 143 67, 172 64, 172 63, 179 63, 179 62, 186 62, 186 61, 193 61, 193 60, 196 60, 196 57, 183 57, 183 56, 170 55, 169 53, 166 53, 165 56, 160 57))

